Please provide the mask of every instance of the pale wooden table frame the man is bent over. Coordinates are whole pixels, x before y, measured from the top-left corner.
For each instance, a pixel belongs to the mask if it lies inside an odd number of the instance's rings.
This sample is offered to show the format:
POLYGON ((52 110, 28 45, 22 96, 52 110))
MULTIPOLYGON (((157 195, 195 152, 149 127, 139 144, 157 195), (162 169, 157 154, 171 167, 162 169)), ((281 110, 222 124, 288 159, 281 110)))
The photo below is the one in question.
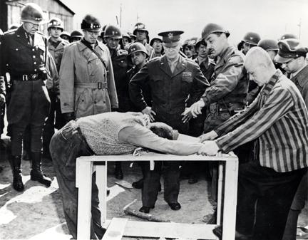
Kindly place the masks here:
MULTIPOLYGON (((237 205, 238 160, 233 154, 216 156, 178 156, 158 153, 133 155, 108 155, 78 157, 76 160, 76 187, 78 187, 77 239, 90 238, 91 184, 92 173, 96 171, 98 197, 102 224, 106 221, 107 162, 112 161, 218 161, 219 182, 217 200, 217 225, 222 225, 222 240, 235 239, 235 217, 237 205), (96 165, 94 165, 96 162, 96 165), (106 165, 100 165, 106 162, 106 165), (98 165, 97 165, 98 164, 98 165), (99 184, 98 184, 99 183, 99 184)), ((103 239, 116 240, 122 236, 168 237, 180 239, 217 239, 212 233, 215 224, 157 223, 113 219, 103 239)))

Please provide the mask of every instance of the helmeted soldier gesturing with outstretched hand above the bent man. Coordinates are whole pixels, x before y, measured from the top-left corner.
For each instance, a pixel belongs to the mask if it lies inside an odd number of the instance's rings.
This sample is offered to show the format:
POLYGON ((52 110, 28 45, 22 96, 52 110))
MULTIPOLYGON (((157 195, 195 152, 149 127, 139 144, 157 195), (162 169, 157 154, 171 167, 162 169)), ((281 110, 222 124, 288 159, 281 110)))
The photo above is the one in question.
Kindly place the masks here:
MULTIPOLYGON (((185 110, 183 120, 188 121, 190 115, 196 118, 197 115, 202 114, 202 109, 206 108, 207 117, 203 132, 207 133, 245 108, 249 80, 244 68, 245 56, 228 43, 229 31, 218 24, 210 23, 202 29, 201 36, 207 44, 210 58, 217 58, 217 61, 211 76, 210 87, 205 90, 200 100, 185 110)), ((236 149, 235 154, 242 160, 250 154, 250 151, 245 151, 244 147, 236 149)), ((211 171, 212 196, 215 198, 217 165, 213 164, 211 171)))

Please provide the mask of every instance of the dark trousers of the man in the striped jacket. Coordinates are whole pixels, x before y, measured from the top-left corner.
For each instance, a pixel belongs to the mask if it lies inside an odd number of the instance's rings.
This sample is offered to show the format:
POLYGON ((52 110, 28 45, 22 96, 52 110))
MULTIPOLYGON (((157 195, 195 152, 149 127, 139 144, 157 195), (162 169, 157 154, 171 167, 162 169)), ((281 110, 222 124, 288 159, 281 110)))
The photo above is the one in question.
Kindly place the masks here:
POLYGON ((289 208, 307 169, 275 172, 258 160, 240 165, 236 230, 253 240, 281 240, 289 208))

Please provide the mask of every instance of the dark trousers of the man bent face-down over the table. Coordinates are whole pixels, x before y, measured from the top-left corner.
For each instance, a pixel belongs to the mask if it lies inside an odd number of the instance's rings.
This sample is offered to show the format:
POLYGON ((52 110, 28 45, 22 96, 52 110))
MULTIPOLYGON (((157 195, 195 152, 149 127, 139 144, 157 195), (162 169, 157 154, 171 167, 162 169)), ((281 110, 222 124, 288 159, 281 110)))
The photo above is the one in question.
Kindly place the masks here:
MULTIPOLYGON (((73 239, 77 239, 78 189, 76 188, 76 158, 93 155, 78 124, 68 122, 51 138, 51 158, 63 200, 64 216, 73 239)), ((98 188, 95 174, 92 176, 91 239, 102 239, 101 211, 98 208, 98 188)))

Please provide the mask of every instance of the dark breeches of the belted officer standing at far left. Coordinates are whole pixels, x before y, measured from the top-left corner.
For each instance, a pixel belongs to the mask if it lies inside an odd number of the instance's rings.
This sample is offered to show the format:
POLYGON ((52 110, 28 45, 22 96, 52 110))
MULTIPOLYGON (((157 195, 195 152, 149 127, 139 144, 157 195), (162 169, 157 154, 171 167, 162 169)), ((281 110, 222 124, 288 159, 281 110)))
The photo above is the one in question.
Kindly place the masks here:
POLYGON ((43 80, 14 80, 7 118, 11 128, 11 153, 21 155, 26 127, 30 126, 31 152, 41 152, 43 125, 50 100, 43 80))

